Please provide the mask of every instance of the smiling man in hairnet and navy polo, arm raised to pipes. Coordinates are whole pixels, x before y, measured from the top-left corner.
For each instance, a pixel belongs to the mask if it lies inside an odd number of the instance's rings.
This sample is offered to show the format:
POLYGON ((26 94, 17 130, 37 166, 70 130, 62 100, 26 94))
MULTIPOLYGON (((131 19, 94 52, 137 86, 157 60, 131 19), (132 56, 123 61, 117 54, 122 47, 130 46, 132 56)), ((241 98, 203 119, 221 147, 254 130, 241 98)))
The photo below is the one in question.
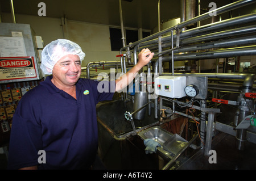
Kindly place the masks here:
POLYGON ((109 92, 100 93, 97 81, 80 78, 85 53, 79 45, 64 39, 48 44, 40 68, 52 75, 28 91, 16 108, 8 169, 88 169, 98 147, 96 104, 111 100, 110 90, 129 85, 153 55, 143 49, 138 64, 109 82, 109 92))

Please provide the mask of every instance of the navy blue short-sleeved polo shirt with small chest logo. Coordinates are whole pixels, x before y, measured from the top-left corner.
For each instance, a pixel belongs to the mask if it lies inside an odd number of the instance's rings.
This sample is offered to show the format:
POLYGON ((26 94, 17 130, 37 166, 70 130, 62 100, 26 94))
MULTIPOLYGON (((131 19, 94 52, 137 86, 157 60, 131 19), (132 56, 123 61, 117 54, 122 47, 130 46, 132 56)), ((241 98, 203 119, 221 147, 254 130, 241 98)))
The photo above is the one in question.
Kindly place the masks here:
MULTIPOLYGON (((76 96, 58 89, 51 76, 20 100, 13 116, 8 169, 80 169, 92 165, 98 148, 96 104, 112 100, 115 83, 80 78, 76 96), (108 86, 108 87, 106 87, 108 86), (46 163, 39 165, 44 150, 46 163)), ((42 157, 41 161, 43 160, 42 157)))

